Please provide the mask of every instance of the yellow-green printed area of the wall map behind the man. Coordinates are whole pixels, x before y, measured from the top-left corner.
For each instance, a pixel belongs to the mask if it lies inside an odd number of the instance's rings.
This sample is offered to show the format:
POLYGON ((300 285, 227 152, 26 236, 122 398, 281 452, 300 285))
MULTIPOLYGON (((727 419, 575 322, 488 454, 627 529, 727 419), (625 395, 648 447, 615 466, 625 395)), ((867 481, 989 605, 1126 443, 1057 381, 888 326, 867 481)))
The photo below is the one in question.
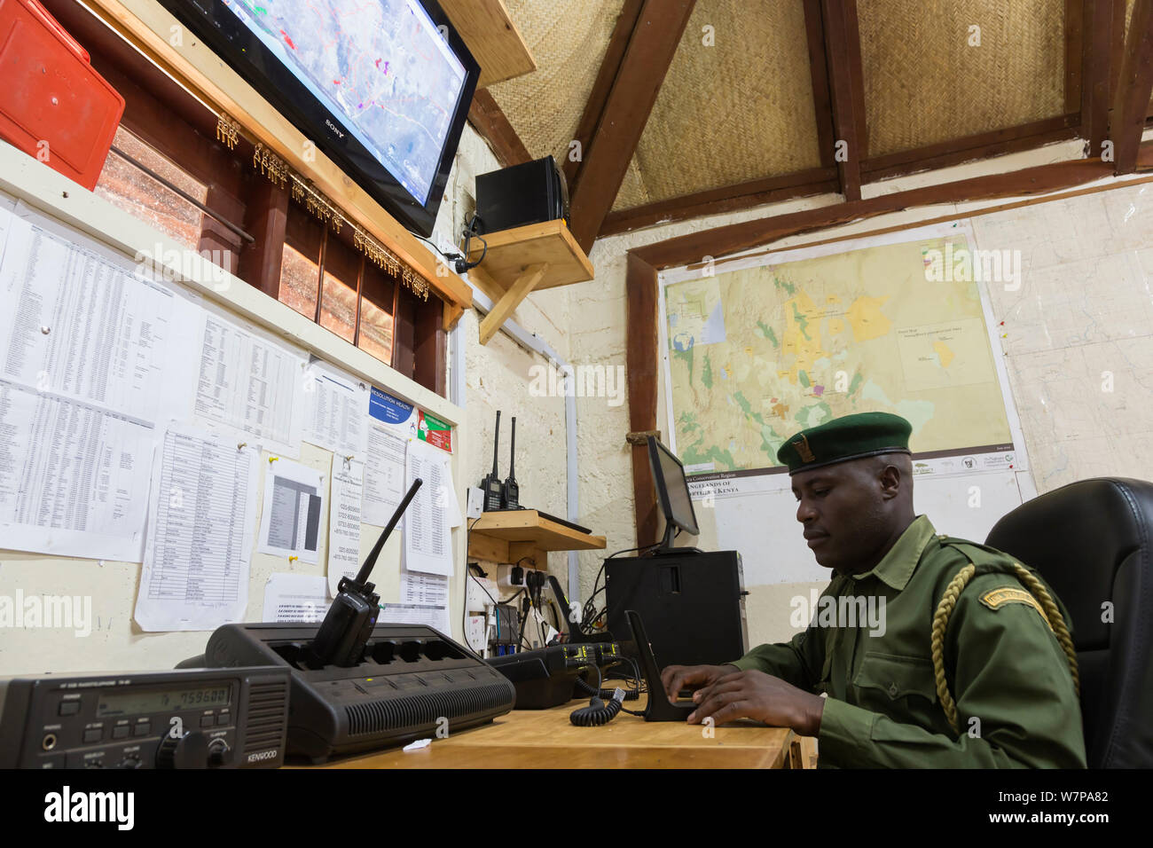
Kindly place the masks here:
MULTIPOLYGON (((914 455, 1009 445, 977 283, 926 272, 945 241, 668 283, 671 412, 685 470, 774 467, 790 435, 854 412, 906 418, 914 455)), ((967 249, 964 237, 948 241, 967 249)))

